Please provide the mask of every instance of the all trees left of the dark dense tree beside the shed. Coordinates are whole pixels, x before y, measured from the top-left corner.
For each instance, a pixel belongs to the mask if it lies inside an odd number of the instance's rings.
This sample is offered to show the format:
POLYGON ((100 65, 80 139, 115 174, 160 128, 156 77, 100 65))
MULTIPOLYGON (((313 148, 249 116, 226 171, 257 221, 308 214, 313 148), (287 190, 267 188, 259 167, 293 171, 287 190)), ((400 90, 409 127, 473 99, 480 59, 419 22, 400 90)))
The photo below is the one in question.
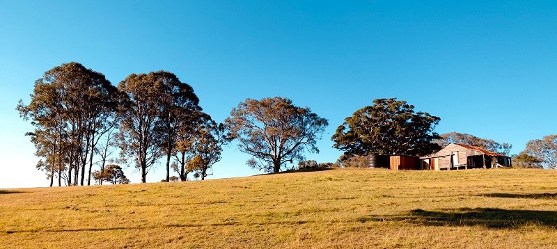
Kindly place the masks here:
POLYGON ((17 110, 35 127, 26 135, 47 172, 50 186, 130 182, 114 162, 135 166, 146 182, 149 170, 164 159, 164 182, 212 175, 222 147, 237 139, 253 156, 252 168, 278 172, 286 163, 303 161, 328 122, 290 99, 246 99, 224 123, 203 113, 193 88, 171 72, 130 74, 118 87, 103 74, 79 63, 45 72, 17 110), (113 151, 119 150, 114 156, 113 151), (108 166, 107 163, 111 163, 108 166), (100 170, 93 171, 98 165, 100 170), (178 177, 170 176, 171 169, 178 177), (86 173, 87 172, 87 173, 86 173))

